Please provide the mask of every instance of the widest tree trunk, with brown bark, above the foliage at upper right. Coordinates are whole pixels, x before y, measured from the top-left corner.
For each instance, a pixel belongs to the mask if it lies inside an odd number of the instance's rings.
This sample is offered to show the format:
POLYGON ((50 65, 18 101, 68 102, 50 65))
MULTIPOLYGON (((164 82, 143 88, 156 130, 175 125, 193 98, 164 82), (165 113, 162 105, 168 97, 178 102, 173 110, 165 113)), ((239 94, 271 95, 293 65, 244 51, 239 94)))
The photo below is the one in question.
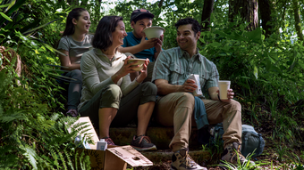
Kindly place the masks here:
POLYGON ((238 14, 249 22, 249 31, 258 28, 258 1, 257 0, 229 0, 229 20, 233 22, 238 14))

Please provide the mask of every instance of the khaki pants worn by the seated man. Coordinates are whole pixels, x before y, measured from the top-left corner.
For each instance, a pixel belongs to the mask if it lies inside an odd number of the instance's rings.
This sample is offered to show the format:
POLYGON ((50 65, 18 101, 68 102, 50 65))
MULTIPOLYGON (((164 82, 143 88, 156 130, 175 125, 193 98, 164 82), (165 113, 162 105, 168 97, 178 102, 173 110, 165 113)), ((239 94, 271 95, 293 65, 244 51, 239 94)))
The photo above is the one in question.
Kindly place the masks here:
MULTIPOLYGON (((224 146, 230 142, 241 142, 241 104, 234 100, 202 101, 209 124, 223 122, 224 146)), ((188 148, 191 126, 196 126, 193 110, 194 96, 191 93, 170 93, 156 100, 156 121, 165 126, 173 125, 174 136, 169 145, 173 151, 188 148)))

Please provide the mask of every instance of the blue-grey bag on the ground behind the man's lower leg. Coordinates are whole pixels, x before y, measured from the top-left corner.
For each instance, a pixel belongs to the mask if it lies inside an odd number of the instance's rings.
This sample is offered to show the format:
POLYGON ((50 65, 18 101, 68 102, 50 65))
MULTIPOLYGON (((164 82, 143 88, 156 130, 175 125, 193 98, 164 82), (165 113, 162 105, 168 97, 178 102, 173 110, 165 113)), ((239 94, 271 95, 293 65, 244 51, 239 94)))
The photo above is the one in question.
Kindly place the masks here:
MULTIPOLYGON (((257 157, 262 154, 265 141, 262 134, 258 134, 254 127, 251 125, 241 125, 241 154, 247 157, 249 154, 255 152, 252 157, 257 157)), ((224 128, 223 124, 219 123, 209 129, 211 141, 215 142, 216 139, 220 139, 223 142, 224 128)))

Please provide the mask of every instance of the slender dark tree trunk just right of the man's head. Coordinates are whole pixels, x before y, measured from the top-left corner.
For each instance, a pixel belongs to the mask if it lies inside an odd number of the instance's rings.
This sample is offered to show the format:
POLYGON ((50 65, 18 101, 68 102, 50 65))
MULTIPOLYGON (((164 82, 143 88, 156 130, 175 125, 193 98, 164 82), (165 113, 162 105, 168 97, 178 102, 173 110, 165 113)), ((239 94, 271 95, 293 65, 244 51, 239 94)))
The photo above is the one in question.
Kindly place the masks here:
POLYGON ((215 0, 204 0, 204 9, 201 15, 202 31, 207 31, 210 29, 207 26, 210 25, 210 16, 213 12, 214 5, 215 0))

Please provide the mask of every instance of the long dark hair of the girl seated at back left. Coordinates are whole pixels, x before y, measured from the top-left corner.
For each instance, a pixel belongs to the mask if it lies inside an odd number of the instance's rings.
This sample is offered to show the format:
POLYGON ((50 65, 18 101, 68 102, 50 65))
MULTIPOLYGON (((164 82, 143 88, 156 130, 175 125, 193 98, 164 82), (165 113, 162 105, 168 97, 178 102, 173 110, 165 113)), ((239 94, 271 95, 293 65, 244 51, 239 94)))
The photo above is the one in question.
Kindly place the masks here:
POLYGON ((75 27, 72 23, 72 19, 79 20, 80 19, 80 13, 86 12, 87 10, 84 8, 74 8, 71 12, 69 12, 68 16, 66 17, 66 25, 65 29, 63 31, 63 36, 69 36, 74 34, 75 27))

